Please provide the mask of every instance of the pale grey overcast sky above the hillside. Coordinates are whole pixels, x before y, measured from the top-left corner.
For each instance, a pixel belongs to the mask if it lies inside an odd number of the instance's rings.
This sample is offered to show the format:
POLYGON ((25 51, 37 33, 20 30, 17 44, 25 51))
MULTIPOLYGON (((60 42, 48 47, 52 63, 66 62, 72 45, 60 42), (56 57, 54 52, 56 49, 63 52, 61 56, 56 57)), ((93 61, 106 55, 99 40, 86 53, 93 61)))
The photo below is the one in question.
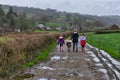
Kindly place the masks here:
POLYGON ((90 15, 120 15, 120 0, 0 0, 0 4, 90 15))

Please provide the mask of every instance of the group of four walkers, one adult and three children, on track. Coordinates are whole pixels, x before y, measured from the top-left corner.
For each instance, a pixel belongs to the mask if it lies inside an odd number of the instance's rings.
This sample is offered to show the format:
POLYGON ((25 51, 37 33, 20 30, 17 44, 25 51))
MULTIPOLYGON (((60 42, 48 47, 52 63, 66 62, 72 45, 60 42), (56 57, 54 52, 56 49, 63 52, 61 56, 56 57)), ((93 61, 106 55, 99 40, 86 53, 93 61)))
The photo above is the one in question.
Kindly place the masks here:
MULTIPOLYGON (((64 51, 64 37, 63 35, 60 35, 58 38, 58 44, 60 46, 60 51, 64 51)), ((78 44, 81 45, 82 52, 85 52, 85 45, 86 45, 86 36, 82 33, 81 36, 79 36, 77 30, 74 30, 74 32, 71 35, 71 38, 68 38, 66 41, 66 46, 68 48, 68 52, 71 51, 71 47, 73 46, 73 52, 78 52, 78 44), (73 45, 72 45, 73 44, 73 45)))

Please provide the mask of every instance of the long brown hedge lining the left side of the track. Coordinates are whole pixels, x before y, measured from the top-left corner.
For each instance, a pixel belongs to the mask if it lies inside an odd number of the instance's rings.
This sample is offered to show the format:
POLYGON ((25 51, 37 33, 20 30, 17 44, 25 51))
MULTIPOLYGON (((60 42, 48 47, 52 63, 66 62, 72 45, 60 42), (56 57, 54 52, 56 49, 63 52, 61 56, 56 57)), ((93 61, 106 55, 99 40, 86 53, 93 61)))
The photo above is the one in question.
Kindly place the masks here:
MULTIPOLYGON (((9 77, 23 69, 22 65, 35 59, 55 42, 61 33, 19 33, 0 37, 0 78, 9 77)), ((70 33, 62 33, 66 36, 70 33)))

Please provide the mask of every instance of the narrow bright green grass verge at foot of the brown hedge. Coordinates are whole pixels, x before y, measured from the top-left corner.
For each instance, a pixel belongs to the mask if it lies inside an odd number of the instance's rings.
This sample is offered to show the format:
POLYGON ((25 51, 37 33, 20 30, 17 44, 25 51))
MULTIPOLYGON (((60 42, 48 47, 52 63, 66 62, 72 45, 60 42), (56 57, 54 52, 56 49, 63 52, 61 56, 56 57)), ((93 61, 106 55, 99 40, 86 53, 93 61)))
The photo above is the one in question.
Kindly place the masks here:
POLYGON ((24 64, 23 67, 25 67, 25 68, 26 67, 31 67, 34 64, 38 63, 39 61, 46 60, 48 55, 49 55, 49 52, 56 45, 57 45, 56 42, 52 43, 50 46, 48 46, 48 48, 46 48, 42 53, 40 53, 40 55, 36 59, 24 64))

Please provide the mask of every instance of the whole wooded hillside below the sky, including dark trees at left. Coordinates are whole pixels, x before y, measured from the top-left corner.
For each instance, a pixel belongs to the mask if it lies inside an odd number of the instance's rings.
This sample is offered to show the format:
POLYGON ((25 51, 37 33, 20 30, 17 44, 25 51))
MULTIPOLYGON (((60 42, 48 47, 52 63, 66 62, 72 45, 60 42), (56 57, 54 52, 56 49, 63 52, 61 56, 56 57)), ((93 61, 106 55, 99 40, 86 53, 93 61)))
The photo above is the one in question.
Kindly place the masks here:
POLYGON ((105 27, 112 23, 118 23, 120 21, 118 18, 116 16, 99 17, 61 12, 49 8, 43 10, 32 7, 0 6, 0 28, 5 30, 33 30, 37 24, 45 25, 48 22, 66 24, 62 27, 76 27, 79 30, 94 30, 95 27, 105 27))

